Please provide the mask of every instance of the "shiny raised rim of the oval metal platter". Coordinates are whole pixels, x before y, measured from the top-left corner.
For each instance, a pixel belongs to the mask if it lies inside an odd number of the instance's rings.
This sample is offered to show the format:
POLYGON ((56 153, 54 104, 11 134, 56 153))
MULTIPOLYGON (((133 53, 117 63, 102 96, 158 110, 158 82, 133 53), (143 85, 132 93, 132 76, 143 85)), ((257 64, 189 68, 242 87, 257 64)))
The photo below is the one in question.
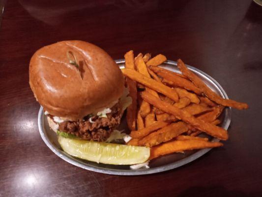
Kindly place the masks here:
MULTIPOLYGON (((115 60, 116 64, 123 64, 125 62, 124 59, 119 59, 119 60, 115 60)), ((167 60, 166 62, 164 62, 164 64, 167 65, 173 65, 173 66, 177 66, 177 63, 175 61, 171 61, 171 60, 167 60)), ((208 74, 206 74, 205 72, 203 72, 202 70, 193 67, 193 66, 189 66, 186 65, 190 70, 197 72, 198 74, 201 74, 202 77, 204 77, 207 80, 211 80, 216 88, 220 91, 220 93, 222 93, 223 98, 224 99, 229 99, 228 95, 226 94, 225 90, 222 88, 222 86, 215 80, 213 79, 211 76, 209 76, 208 74)), ((227 119, 224 120, 225 125, 224 125, 224 129, 227 130, 229 128, 229 125, 231 123, 231 107, 227 108, 227 114, 226 116, 227 119)), ((206 149, 201 149, 199 151, 197 151, 196 153, 183 158, 179 161, 176 161, 174 163, 171 164, 165 164, 162 166, 158 166, 158 167, 152 167, 152 168, 148 168, 148 169, 138 169, 138 170, 125 170, 125 169, 108 169, 108 168, 104 168, 104 167, 97 167, 97 166, 92 166, 89 164, 86 164, 84 162, 81 162, 79 160, 77 160, 76 158, 72 158, 71 156, 69 156, 68 154, 64 153, 62 150, 60 150, 59 148, 57 148, 56 146, 53 145, 53 143, 50 141, 50 139, 48 138, 48 136, 45 134, 44 131, 44 127, 43 127, 43 121, 44 121, 44 110, 43 107, 41 106, 38 112, 38 129, 40 132, 40 135, 43 139, 43 141, 45 142, 45 144, 58 156, 60 157, 62 160, 76 165, 78 167, 90 170, 90 171, 94 171, 94 172, 99 172, 99 173, 104 173, 104 174, 112 174, 112 175, 144 175, 144 174, 153 174, 153 173, 158 173, 158 172, 163 172, 163 171, 167 171, 167 170, 171 170, 171 169, 175 169, 177 167, 180 167, 182 165, 188 164, 190 162, 193 162, 194 160, 200 158, 201 156, 203 156, 205 153, 207 153, 208 151, 211 150, 211 148, 206 148, 206 149)), ((217 138, 213 138, 212 141, 216 141, 218 142, 219 139, 217 138)))

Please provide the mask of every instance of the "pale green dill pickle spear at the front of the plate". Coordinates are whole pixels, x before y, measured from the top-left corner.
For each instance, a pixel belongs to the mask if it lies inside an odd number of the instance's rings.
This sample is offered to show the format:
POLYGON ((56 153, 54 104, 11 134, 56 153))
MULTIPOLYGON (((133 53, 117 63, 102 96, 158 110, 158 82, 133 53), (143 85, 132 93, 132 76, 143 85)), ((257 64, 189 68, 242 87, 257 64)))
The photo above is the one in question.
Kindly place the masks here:
POLYGON ((58 142, 67 154, 103 164, 132 165, 144 163, 150 148, 107 142, 95 142, 58 136, 58 142))

